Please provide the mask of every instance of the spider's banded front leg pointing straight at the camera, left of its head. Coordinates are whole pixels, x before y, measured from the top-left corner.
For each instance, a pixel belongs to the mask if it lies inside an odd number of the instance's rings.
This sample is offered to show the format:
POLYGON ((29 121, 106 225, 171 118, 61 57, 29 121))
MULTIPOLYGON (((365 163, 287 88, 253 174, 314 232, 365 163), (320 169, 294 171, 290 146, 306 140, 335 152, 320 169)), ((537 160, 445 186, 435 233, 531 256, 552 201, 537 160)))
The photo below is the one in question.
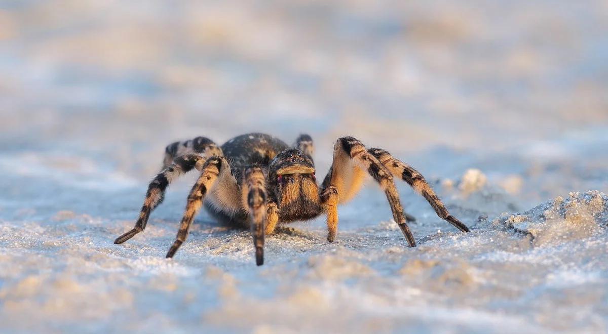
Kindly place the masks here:
POLYGON ((243 209, 249 213, 251 234, 255 247, 255 263, 263 265, 268 193, 266 192, 266 178, 260 167, 249 166, 245 168, 241 186, 241 199, 243 209))

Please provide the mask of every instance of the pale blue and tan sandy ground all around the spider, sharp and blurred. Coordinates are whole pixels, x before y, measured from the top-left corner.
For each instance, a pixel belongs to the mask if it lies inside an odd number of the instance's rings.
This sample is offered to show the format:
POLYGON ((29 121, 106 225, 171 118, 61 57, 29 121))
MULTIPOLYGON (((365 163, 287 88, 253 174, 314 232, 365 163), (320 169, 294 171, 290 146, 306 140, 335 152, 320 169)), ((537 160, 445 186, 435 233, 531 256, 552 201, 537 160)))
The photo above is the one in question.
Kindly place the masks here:
POLYGON ((0 2, 0 332, 608 331, 606 1, 0 2), (255 267, 193 182, 125 245, 165 145, 340 135, 418 168, 255 267))

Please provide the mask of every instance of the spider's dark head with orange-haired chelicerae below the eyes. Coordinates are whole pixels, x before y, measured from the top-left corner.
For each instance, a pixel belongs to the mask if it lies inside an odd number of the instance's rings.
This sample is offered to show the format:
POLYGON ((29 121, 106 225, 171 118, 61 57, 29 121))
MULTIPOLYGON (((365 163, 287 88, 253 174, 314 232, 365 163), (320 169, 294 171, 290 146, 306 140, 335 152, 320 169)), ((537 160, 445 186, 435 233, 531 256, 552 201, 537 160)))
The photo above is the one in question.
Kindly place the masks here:
POLYGON ((269 188, 274 191, 281 220, 316 217, 320 205, 313 159, 299 149, 286 149, 269 167, 269 188))

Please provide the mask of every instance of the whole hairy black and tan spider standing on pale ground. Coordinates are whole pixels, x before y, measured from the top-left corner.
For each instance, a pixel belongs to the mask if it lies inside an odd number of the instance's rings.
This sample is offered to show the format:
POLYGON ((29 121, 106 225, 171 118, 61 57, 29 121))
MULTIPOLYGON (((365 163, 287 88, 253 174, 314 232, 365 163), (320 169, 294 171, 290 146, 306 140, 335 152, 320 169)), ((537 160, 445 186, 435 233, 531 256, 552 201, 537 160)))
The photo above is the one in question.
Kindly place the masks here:
POLYGON ((338 228, 337 205, 358 193, 366 175, 384 190, 393 219, 410 247, 415 247, 416 242, 406 218, 413 217, 403 212, 393 177, 404 180, 424 196, 441 219, 460 231, 469 231, 451 216, 418 171, 383 149, 367 149, 353 137, 339 138, 333 164, 320 188, 312 155, 313 139, 309 135, 300 135, 291 147, 266 134, 240 135, 221 147, 204 137, 173 143, 167 146, 164 169, 148 186, 135 227, 114 243, 122 244, 143 231, 151 211, 164 199, 169 183, 195 168, 201 175, 190 191, 178 236, 167 257, 173 257, 184 243, 203 203, 218 220, 251 229, 257 265, 264 263, 264 236, 271 234, 277 223, 312 219, 325 213, 327 240, 333 242, 338 228))

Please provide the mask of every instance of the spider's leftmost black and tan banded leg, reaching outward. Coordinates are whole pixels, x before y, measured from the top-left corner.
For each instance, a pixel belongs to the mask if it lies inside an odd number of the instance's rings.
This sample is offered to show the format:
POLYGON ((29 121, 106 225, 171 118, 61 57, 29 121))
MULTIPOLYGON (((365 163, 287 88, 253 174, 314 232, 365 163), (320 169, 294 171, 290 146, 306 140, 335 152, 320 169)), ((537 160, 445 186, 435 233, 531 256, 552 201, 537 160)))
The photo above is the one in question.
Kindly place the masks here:
POLYGON ((146 198, 143 200, 142 210, 139 213, 139 218, 135 223, 133 230, 128 231, 122 236, 114 240, 114 244, 122 244, 126 240, 131 239, 137 233, 145 230, 150 213, 159 206, 165 198, 165 191, 169 184, 178 179, 179 176, 192 171, 193 168, 201 168, 201 164, 204 162, 204 158, 198 154, 186 154, 181 157, 177 157, 173 160, 170 166, 163 169, 154 180, 150 182, 148 186, 148 192, 146 198))

